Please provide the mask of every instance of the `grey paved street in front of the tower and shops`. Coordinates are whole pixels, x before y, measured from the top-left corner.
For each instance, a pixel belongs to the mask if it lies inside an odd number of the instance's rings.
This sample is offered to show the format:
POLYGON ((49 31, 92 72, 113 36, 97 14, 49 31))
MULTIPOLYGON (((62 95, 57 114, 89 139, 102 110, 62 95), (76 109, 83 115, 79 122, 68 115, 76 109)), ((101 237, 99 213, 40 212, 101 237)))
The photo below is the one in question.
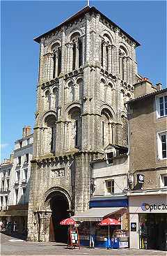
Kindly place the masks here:
POLYGON ((16 239, 15 237, 7 236, 6 234, 0 234, 1 236, 1 256, 3 255, 143 255, 143 256, 159 256, 166 255, 166 252, 158 250, 105 250, 104 248, 83 248, 81 250, 76 248, 70 250, 66 248, 65 243, 33 243, 24 241, 22 239, 16 239))

